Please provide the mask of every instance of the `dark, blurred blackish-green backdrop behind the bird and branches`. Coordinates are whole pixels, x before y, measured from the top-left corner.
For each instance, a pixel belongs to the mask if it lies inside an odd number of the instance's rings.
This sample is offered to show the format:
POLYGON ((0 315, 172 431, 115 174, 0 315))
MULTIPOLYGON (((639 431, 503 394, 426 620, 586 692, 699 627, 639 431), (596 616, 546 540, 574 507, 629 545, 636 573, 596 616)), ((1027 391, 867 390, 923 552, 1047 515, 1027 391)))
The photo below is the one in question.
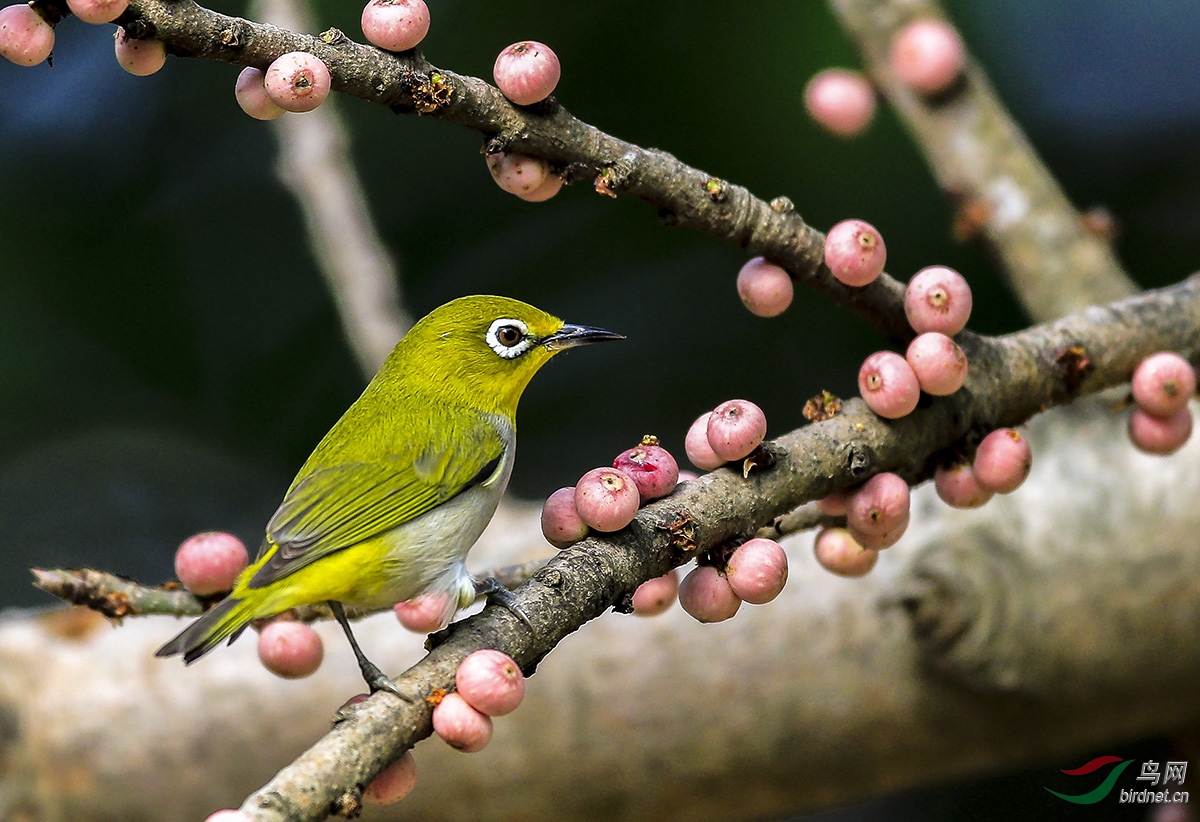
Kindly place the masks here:
MULTIPOLYGON (((974 288, 976 330, 1024 324, 986 252, 952 239, 953 205, 890 112, 850 142, 805 115, 815 72, 857 66, 823 4, 430 6, 422 49, 436 65, 490 79, 504 46, 541 40, 563 61, 557 97, 583 120, 761 197, 786 194, 822 230, 868 220, 890 274, 952 265, 974 288)), ((948 7, 1072 199, 1117 217, 1138 281, 1192 272, 1200 5, 948 7)), ((358 37, 358 5, 317 8, 318 29, 358 37)), ((253 547, 365 384, 276 178, 272 128, 238 108, 236 74, 172 58, 132 77, 113 59, 112 26, 74 18, 58 29, 53 68, 0 65, 0 606, 49 602, 30 565, 157 582, 193 532, 233 530, 253 547)), ((808 292, 780 318, 752 317, 733 284, 744 252, 664 228, 641 203, 587 185, 524 203, 492 182, 478 134, 337 106, 413 316, 499 293, 629 336, 534 380, 511 493, 545 497, 647 432, 682 452, 691 420, 732 396, 782 433, 821 389, 853 394, 881 344, 808 292)))

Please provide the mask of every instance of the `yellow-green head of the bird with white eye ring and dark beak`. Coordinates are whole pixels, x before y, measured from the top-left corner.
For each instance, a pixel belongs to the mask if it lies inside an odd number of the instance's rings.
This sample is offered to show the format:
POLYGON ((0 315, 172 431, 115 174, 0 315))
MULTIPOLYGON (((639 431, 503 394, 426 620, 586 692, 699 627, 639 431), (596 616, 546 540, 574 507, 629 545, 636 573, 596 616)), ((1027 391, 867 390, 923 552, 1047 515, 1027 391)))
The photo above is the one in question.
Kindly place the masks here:
POLYGON ((414 325, 384 367, 400 366, 409 380, 418 373, 427 383, 440 380, 445 391, 466 392, 473 404, 511 415, 529 380, 554 354, 605 340, 624 337, 564 323, 506 296, 463 296, 414 325))

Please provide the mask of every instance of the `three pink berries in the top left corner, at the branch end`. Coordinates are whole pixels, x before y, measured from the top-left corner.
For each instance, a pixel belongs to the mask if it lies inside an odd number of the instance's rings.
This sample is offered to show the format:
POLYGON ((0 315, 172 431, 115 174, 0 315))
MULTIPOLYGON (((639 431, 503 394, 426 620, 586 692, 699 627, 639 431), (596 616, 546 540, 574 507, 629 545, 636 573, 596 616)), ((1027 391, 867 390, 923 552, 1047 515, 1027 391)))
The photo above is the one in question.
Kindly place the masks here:
MULTIPOLYGON (((67 0, 71 13, 84 23, 112 23, 120 17, 128 0, 67 0)), ((121 68, 144 77, 167 62, 167 49, 157 40, 131 40, 118 26, 114 49, 121 68)), ((18 66, 36 66, 54 50, 54 28, 32 6, 24 4, 0 8, 0 56, 18 66)))

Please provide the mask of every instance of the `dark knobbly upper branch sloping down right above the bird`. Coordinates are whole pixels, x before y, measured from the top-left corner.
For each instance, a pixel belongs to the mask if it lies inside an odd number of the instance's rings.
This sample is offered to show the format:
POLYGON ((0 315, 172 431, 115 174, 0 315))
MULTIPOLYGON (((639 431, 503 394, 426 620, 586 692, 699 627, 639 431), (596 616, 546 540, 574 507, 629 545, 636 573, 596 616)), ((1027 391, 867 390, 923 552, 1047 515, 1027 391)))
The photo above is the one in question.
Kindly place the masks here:
POLYGON ((191 0, 132 0, 118 20, 133 37, 155 37, 176 56, 266 68, 287 52, 311 52, 329 66, 336 91, 433 116, 480 132, 490 151, 545 157, 570 180, 642 199, 664 222, 689 226, 762 254, 890 337, 912 336, 904 287, 883 276, 863 288, 841 284, 823 264, 824 235, 794 214, 748 190, 691 168, 658 149, 617 139, 572 116, 553 97, 534 107, 510 103, 481 79, 437 68, 419 52, 391 54, 356 43, 337 29, 302 35, 228 17, 191 0))

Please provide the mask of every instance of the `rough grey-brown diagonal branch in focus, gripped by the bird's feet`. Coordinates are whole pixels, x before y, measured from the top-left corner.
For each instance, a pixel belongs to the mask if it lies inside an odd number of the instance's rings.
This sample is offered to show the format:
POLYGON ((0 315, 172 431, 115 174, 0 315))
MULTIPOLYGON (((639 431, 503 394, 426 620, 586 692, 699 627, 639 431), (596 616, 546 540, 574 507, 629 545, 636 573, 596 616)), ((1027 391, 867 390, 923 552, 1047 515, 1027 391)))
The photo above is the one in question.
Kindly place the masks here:
MULTIPOLYGON (((769 445, 774 464, 743 479, 719 469, 686 482, 638 514, 623 532, 563 551, 516 592, 530 628, 490 607, 456 624, 430 655, 397 679, 404 692, 450 690, 470 652, 498 648, 527 672, 566 636, 610 607, 626 610, 638 583, 697 551, 748 536, 797 505, 862 482, 878 470, 924 476, 931 458, 967 437, 1016 425, 1045 408, 1121 384, 1148 353, 1200 356, 1200 276, 1169 289, 979 344, 983 366, 970 390, 936 400, 907 418, 882 420, 859 401, 842 414, 793 431, 769 445), (1088 367, 1063 366, 1066 350, 1088 367)), ((242 810, 258 820, 319 820, 355 806, 360 786, 431 733, 432 707, 376 694, 352 720, 288 766, 242 810)))

